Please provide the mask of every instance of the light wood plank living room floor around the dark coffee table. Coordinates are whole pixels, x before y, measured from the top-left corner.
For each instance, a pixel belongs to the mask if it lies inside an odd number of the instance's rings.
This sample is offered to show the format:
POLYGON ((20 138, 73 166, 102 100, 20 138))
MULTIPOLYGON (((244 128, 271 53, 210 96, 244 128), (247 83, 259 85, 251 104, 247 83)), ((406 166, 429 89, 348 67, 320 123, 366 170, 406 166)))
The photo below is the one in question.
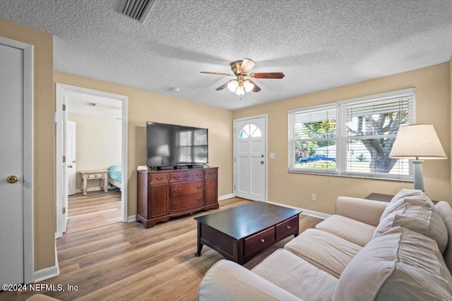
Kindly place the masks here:
MULTIPOLYGON (((66 233, 57 240, 61 276, 42 282, 62 285, 65 291, 39 293, 60 300, 196 300, 201 278, 223 257, 206 246, 201 257, 194 256, 194 216, 248 202, 227 199, 220 202, 220 209, 171 219, 149 229, 132 222, 66 233), (67 285, 77 285, 77 290, 69 291, 67 285)), ((319 221, 300 215, 300 233, 319 221)), ((292 238, 269 247, 244 266, 253 268, 292 238)), ((25 300, 35 293, 2 292, 0 300, 25 300)))

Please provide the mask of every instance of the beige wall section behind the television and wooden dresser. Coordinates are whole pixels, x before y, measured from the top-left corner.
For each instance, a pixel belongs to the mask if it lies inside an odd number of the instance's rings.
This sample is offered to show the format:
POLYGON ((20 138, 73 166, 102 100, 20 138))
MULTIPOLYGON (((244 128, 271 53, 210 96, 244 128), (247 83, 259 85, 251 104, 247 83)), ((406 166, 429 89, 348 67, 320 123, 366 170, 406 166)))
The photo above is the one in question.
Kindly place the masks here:
POLYGON ((219 167, 218 195, 232 193, 232 111, 176 97, 54 72, 54 82, 129 97, 129 212, 136 214, 136 167, 146 165, 146 121, 192 125, 209 129, 209 165, 219 167))

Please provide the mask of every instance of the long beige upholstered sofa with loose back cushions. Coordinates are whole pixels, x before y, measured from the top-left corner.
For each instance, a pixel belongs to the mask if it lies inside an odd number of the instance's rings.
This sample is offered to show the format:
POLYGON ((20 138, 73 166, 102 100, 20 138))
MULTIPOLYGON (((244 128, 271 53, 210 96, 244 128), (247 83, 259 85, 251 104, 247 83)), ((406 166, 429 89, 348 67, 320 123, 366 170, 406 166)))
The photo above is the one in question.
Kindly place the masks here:
POLYGON ((339 197, 336 214, 249 271, 220 260, 198 300, 452 300, 452 209, 420 190, 339 197))

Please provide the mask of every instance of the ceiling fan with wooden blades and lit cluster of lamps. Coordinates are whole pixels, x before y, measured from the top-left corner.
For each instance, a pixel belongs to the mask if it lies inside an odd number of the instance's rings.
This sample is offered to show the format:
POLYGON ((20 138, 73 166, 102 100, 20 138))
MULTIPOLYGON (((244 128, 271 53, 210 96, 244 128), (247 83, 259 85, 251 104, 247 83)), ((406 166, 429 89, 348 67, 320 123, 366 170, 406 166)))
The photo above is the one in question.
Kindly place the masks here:
POLYGON ((233 80, 225 82, 225 84, 215 90, 220 91, 227 87, 231 92, 235 92, 237 95, 243 95, 245 92, 250 91, 261 91, 261 88, 258 87, 250 78, 284 78, 284 73, 282 72, 249 73, 249 70, 251 70, 255 64, 256 63, 254 63, 252 59, 243 59, 243 61, 234 61, 231 63, 231 70, 234 74, 208 71, 201 71, 201 73, 233 77, 233 80))

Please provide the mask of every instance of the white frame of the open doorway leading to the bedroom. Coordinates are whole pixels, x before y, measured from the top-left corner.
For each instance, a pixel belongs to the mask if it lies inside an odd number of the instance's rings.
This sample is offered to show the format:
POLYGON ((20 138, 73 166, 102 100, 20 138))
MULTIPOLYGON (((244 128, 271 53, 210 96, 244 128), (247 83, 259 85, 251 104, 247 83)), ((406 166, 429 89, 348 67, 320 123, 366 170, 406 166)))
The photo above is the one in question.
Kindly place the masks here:
MULTIPOLYGON (((62 114, 62 104, 63 99, 66 97, 67 92, 76 92, 81 94, 88 94, 93 95, 97 97, 104 97, 104 98, 111 98, 111 99, 117 99, 121 100, 122 102, 122 157, 121 157, 121 168, 122 168, 122 188, 121 188, 121 220, 126 223, 128 221, 127 216, 127 149, 128 149, 128 102, 129 97, 126 97, 124 95, 119 94, 113 94, 109 92, 103 92, 98 90, 91 90, 83 87, 76 87, 72 85, 66 85, 61 84, 57 82, 56 87, 56 105, 57 105, 57 116, 61 116, 62 114)), ((55 238, 60 238, 62 233, 62 176, 61 176, 61 157, 63 156, 63 149, 62 149, 62 133, 63 128, 62 125, 57 123, 57 141, 56 141, 56 148, 57 148, 57 164, 56 164, 56 178, 57 178, 57 232, 55 233, 55 238)))

